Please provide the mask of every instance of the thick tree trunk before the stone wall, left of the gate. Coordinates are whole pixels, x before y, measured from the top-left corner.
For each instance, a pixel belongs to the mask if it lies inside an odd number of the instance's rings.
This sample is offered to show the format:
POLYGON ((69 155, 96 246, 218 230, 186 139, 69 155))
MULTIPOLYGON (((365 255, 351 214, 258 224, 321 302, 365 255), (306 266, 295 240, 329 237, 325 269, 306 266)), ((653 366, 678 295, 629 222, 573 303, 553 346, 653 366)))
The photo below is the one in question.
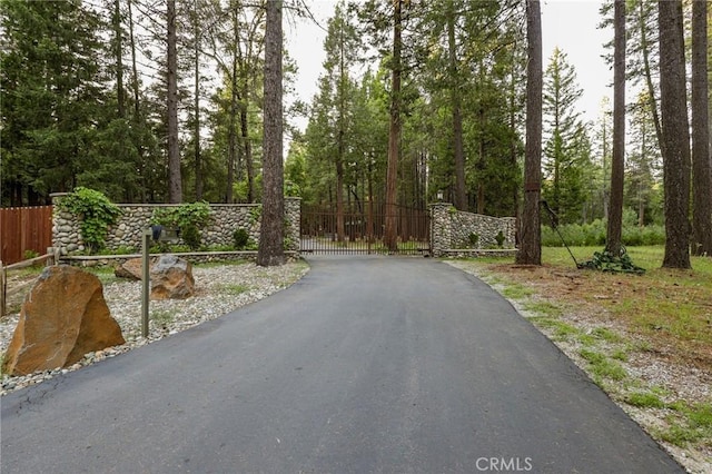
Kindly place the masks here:
POLYGON ((266 2, 265 108, 263 158, 263 220, 257 265, 283 265, 284 253, 284 164, 281 117, 281 0, 266 2))

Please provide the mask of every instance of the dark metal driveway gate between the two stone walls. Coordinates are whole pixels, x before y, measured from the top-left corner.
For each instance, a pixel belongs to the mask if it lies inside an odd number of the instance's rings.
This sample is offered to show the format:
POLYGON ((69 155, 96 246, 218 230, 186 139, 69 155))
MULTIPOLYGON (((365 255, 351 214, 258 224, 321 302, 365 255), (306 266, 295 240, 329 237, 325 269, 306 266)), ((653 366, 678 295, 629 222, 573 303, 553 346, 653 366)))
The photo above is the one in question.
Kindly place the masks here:
POLYGON ((301 253, 429 255, 429 217, 425 209, 396 206, 396 249, 384 244, 385 205, 349 207, 343 215, 339 238, 335 209, 303 207, 301 253))

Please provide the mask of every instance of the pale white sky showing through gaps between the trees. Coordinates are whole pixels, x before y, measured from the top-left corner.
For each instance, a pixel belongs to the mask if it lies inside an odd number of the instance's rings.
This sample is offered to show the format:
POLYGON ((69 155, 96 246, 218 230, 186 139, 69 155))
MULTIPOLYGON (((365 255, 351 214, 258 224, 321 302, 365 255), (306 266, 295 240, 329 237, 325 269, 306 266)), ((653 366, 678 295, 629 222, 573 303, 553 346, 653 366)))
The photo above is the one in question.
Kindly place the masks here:
MULTIPOLYGON (((335 3, 333 0, 308 1, 315 18, 324 28, 335 3)), ((578 86, 584 90, 578 109, 591 121, 597 119, 603 97, 611 97, 609 85, 613 79, 612 70, 601 57, 603 45, 613 38, 612 30, 596 29, 601 3, 596 0, 542 0, 541 3, 544 69, 554 48, 558 46, 576 70, 578 86)), ((312 21, 285 23, 287 48, 299 67, 296 93, 298 99, 307 103, 318 89, 325 36, 326 32, 312 21)), ((306 122, 298 125, 304 128, 306 122)))

